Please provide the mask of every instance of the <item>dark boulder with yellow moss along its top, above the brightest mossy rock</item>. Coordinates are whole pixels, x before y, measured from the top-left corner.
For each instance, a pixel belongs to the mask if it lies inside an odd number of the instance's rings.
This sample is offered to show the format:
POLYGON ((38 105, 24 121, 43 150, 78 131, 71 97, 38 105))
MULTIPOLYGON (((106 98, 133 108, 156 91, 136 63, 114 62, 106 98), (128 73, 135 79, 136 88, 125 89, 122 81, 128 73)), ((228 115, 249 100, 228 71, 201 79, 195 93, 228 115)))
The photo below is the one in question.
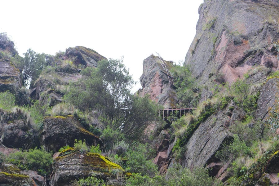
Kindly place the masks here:
POLYGON ((69 115, 67 117, 45 117, 42 131, 42 144, 57 152, 61 147, 74 146, 74 140, 85 140, 87 144, 102 144, 98 136, 84 129, 80 122, 69 115))

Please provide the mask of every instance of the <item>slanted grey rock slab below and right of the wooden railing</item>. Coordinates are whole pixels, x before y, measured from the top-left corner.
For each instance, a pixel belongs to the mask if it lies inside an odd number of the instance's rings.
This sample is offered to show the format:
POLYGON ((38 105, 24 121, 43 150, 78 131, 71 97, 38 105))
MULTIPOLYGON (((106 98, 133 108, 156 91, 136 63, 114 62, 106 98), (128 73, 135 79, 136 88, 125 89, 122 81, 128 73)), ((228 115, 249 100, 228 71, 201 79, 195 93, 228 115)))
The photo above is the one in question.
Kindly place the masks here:
MULTIPOLYGON (((231 102, 226 108, 212 114, 206 121, 200 123, 183 147, 186 151, 180 160, 181 165, 193 169, 212 162, 215 165, 218 164, 215 152, 221 148, 223 142, 233 139, 228 127, 233 125, 235 121, 242 120, 245 116, 246 113, 231 102)), ((217 166, 216 173, 220 168, 221 166, 219 168, 217 166)))

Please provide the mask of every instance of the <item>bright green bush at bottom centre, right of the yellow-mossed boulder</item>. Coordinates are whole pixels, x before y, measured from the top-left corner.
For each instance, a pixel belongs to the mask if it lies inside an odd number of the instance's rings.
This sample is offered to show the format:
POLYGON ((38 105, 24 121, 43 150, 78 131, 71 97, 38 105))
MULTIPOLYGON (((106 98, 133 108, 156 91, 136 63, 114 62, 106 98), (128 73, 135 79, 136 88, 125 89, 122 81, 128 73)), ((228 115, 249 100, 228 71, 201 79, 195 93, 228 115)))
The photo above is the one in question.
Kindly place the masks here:
POLYGON ((141 175, 153 177, 157 173, 157 165, 149 159, 148 144, 134 142, 126 153, 128 170, 141 175))

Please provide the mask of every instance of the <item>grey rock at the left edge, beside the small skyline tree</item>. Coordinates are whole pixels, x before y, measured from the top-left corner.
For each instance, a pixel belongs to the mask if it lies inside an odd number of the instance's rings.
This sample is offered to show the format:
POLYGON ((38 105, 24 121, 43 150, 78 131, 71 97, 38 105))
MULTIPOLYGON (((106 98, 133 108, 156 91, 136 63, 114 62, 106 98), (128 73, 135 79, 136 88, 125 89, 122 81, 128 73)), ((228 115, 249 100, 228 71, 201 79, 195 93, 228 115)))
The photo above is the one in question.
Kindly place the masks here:
POLYGON ((0 92, 15 94, 21 86, 20 71, 9 60, 0 58, 0 92))

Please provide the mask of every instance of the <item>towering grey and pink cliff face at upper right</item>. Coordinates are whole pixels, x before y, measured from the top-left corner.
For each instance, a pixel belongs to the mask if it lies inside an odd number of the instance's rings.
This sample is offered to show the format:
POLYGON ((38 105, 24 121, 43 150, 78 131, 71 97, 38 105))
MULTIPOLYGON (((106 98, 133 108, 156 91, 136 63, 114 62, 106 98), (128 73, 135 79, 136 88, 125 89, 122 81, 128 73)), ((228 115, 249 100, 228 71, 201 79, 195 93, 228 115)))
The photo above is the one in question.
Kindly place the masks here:
POLYGON ((275 0, 201 4, 196 36, 185 57, 199 83, 218 73, 233 82, 257 65, 278 69, 273 47, 279 39, 278 8, 275 0))

